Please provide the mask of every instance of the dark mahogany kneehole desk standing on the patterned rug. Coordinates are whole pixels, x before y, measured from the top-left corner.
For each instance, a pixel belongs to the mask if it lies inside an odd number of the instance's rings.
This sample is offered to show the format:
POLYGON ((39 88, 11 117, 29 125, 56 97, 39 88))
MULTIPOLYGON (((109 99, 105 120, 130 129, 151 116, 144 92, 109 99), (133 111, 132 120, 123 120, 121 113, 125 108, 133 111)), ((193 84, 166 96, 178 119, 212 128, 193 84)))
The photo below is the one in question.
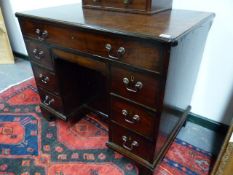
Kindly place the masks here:
POLYGON ((99 114, 109 125, 108 147, 140 174, 152 174, 186 121, 214 14, 140 15, 75 4, 16 16, 44 117, 99 114))

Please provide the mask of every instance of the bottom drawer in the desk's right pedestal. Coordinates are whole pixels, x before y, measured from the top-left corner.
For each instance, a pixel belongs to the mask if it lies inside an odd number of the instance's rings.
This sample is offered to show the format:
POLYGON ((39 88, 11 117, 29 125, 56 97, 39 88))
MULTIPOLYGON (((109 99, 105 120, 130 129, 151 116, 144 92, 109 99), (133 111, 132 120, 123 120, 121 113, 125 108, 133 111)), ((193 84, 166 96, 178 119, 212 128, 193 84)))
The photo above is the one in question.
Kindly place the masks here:
POLYGON ((109 133, 113 143, 149 162, 153 161, 155 146, 152 142, 113 122, 110 124, 110 131, 113 131, 109 133))

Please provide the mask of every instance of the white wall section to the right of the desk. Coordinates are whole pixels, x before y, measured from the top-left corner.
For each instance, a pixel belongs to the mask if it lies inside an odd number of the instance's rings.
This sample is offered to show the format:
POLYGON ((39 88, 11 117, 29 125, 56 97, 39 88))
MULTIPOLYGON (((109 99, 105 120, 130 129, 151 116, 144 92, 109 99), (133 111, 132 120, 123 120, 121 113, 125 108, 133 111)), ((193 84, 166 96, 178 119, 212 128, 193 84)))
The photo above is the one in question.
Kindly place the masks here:
POLYGON ((233 117, 233 1, 174 0, 173 8, 215 12, 192 97, 192 112, 230 123, 233 117))

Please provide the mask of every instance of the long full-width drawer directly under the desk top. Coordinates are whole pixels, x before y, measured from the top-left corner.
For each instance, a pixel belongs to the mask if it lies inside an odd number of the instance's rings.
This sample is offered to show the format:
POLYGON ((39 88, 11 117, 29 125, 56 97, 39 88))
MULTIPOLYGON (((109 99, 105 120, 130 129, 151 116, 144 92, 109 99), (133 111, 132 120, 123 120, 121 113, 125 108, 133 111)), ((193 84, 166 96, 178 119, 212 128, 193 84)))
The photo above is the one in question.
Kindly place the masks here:
POLYGON ((24 36, 155 72, 162 71, 163 48, 157 42, 31 20, 21 19, 20 24, 24 36), (46 35, 38 35, 37 31, 46 35))

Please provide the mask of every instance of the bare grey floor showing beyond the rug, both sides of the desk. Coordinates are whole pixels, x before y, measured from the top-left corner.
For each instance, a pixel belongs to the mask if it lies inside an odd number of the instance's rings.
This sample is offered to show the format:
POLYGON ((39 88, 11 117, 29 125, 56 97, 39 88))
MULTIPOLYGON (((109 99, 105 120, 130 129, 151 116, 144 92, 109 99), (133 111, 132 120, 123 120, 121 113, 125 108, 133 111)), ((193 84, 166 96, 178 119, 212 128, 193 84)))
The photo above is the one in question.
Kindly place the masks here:
MULTIPOLYGON (((17 59, 14 65, 0 65, 0 92, 32 76, 28 61, 17 59)), ((224 136, 190 122, 187 122, 177 137, 215 155, 224 139, 224 136)))

